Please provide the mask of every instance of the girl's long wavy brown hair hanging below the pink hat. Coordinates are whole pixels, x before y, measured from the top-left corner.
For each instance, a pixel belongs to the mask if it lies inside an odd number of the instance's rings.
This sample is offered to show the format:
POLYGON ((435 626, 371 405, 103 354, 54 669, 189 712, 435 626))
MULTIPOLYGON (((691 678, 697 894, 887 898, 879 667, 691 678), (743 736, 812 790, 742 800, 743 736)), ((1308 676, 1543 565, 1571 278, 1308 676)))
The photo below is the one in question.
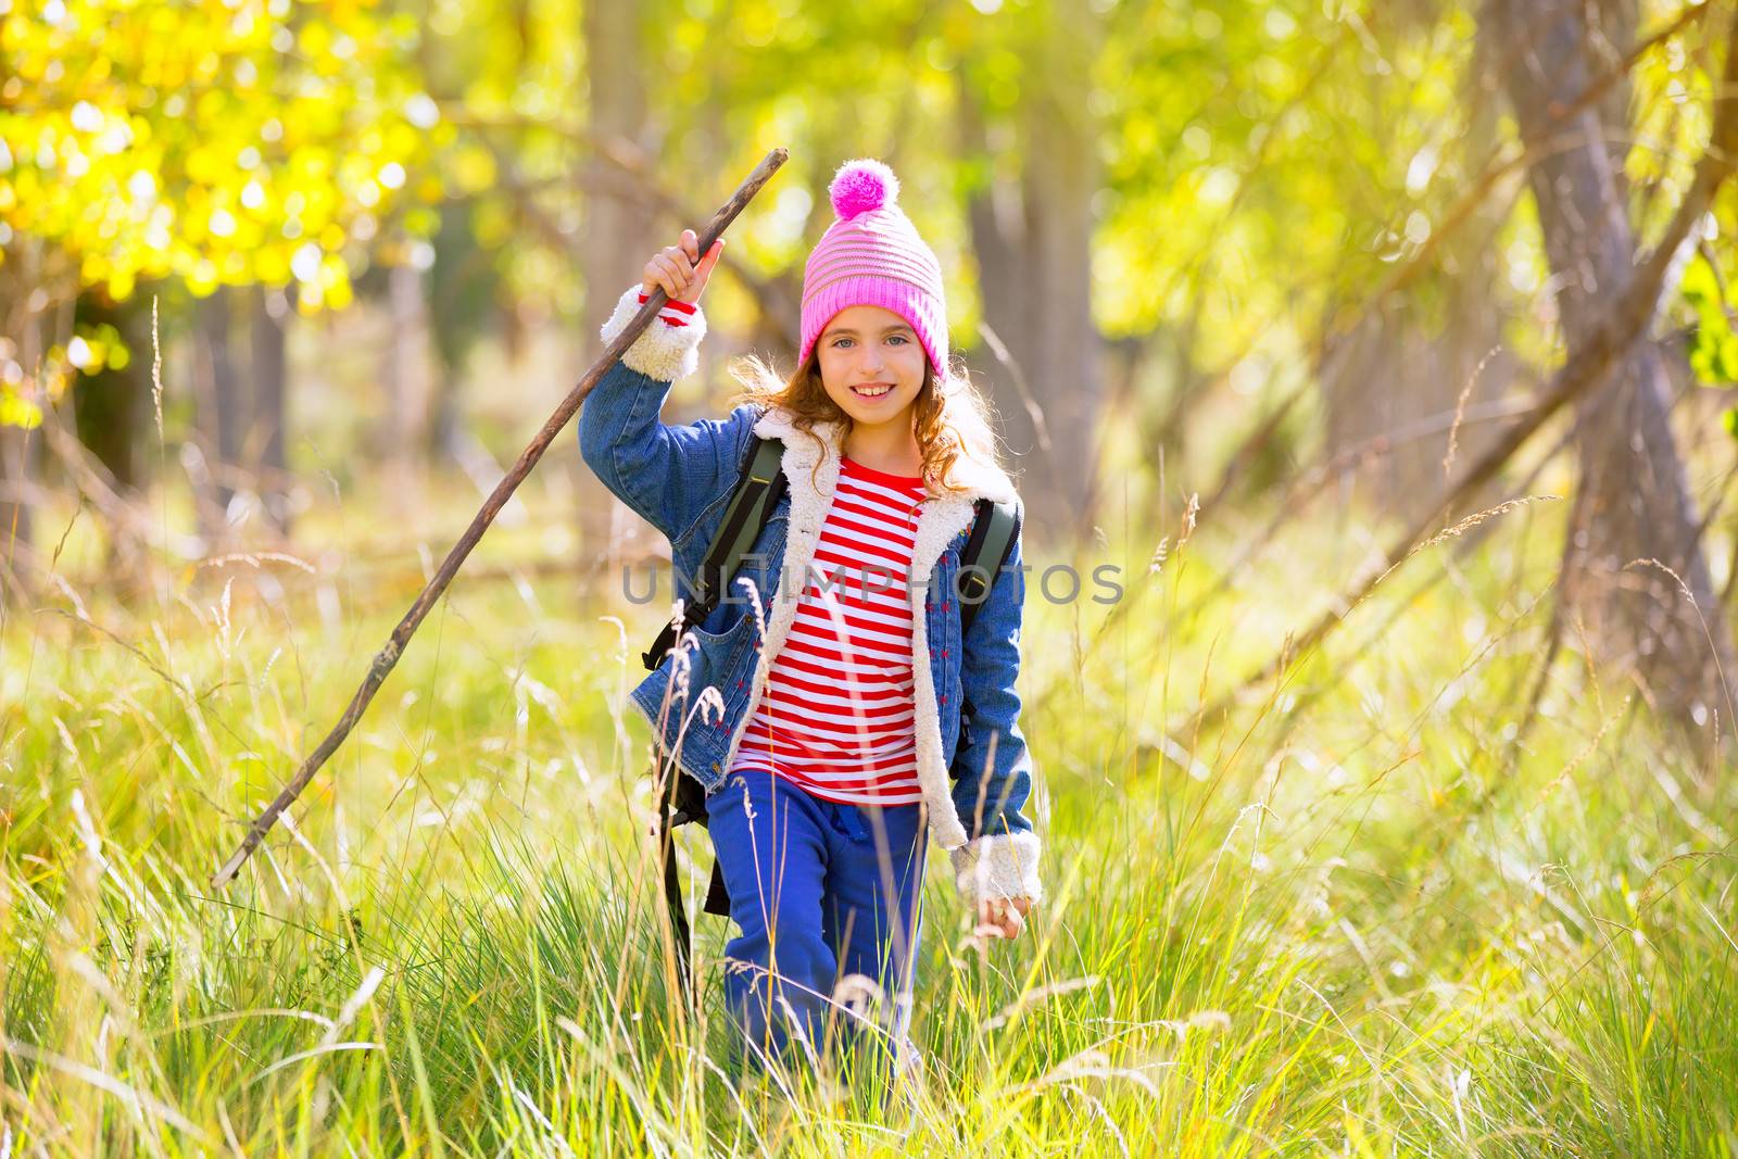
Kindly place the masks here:
MULTIPOLYGON (((779 372, 758 354, 739 358, 732 363, 730 374, 742 384, 742 389, 730 398, 730 407, 737 403, 782 407, 794 415, 793 426, 817 443, 822 441, 815 433, 820 422, 839 424, 845 434, 852 431, 852 417, 827 396, 827 387, 820 381, 819 342, 808 349, 808 358, 789 377, 780 379, 779 372)), ((972 382, 965 363, 956 363, 937 375, 935 363, 923 360, 923 386, 912 401, 911 426, 923 457, 925 488, 932 497, 966 490, 954 476, 961 459, 1001 469, 989 401, 972 382)), ((819 462, 815 466, 819 469, 819 462)))

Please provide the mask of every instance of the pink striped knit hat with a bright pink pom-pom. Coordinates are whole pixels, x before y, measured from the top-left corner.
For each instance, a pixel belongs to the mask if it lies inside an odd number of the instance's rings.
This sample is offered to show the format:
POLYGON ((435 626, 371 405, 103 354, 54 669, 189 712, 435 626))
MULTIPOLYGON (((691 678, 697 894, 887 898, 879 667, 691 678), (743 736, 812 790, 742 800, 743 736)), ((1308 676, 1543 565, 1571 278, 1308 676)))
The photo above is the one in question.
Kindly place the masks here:
POLYGON ((942 264, 899 207, 899 177, 872 158, 839 165, 827 186, 838 219, 803 268, 803 349, 846 306, 890 309, 918 332, 937 375, 947 368, 942 264))

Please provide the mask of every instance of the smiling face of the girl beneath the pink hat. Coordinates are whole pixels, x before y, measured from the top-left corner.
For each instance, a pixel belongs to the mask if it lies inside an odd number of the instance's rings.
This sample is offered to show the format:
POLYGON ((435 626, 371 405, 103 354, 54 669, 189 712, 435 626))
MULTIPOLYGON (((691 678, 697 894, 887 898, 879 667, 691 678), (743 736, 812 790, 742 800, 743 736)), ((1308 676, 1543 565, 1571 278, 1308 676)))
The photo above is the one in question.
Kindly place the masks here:
POLYGON ((820 330, 815 351, 827 398, 852 422, 911 427, 928 367, 911 323, 879 306, 846 306, 820 330))

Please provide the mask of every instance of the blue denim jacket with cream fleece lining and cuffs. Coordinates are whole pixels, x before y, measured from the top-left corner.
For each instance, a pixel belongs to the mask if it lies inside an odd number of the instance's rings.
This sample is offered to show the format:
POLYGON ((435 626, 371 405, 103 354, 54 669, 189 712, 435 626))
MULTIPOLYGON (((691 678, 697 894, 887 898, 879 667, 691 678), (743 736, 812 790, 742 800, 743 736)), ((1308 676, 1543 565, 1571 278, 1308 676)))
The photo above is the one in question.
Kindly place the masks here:
MULTIPOLYGON (((605 342, 638 313, 638 292, 634 285, 622 294, 603 325, 605 342)), ((723 419, 662 422, 669 387, 695 370, 706 335, 700 311, 687 321, 669 327, 653 320, 603 375, 580 410, 579 447, 603 485, 669 539, 676 593, 687 601, 723 521, 749 436, 784 441, 789 487, 737 570, 730 596, 631 693, 660 749, 711 796, 732 768, 773 657, 796 620, 839 476, 843 427, 817 424, 817 440, 798 431, 784 408, 756 403, 723 419)), ((970 490, 925 500, 911 561, 912 605, 923 599, 911 639, 918 782, 930 834, 949 850, 961 893, 970 900, 1036 900, 1039 843, 1024 813, 1034 770, 1013 686, 1025 601, 1020 539, 966 639, 954 587, 973 502, 989 497, 1018 504, 1018 495, 1001 469, 965 457, 954 478, 970 490), (966 721, 963 705, 970 711, 966 721)))

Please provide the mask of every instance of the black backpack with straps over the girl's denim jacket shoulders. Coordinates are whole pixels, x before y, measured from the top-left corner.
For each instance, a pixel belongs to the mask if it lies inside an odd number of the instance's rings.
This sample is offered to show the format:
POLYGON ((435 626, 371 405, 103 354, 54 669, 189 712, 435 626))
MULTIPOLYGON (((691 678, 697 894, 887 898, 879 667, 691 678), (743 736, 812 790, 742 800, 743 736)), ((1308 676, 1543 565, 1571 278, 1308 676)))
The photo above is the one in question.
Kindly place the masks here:
MULTIPOLYGON (((760 434, 749 436, 735 493, 730 497, 725 520, 718 525, 718 532, 713 533, 713 542, 707 546, 706 558, 700 563, 700 573, 695 577, 693 599, 683 606, 681 624, 666 622, 657 639, 652 641, 652 646, 641 653, 640 659, 645 662, 647 671, 657 669, 669 650, 676 646, 681 632, 702 624, 718 606, 721 593, 730 589, 730 580, 735 577, 742 558, 754 546, 754 540, 760 539, 766 520, 772 518, 779 499, 784 497, 787 488, 782 457, 784 443, 780 440, 760 434)), ((972 631, 972 620, 977 617, 984 599, 989 598, 996 577, 1001 575, 1001 568, 1008 563, 1008 554, 1013 551, 1018 533, 1020 520, 1012 502, 977 500, 972 535, 959 553, 961 639, 972 631), (994 560, 996 565, 985 566, 985 560, 994 560)), ((972 704, 965 702, 959 705, 961 744, 965 744, 970 718, 972 704)), ((676 957, 681 970, 680 980, 685 990, 690 985, 688 916, 681 905, 681 878, 676 871, 676 846, 671 831, 688 822, 706 824, 706 791, 700 787, 700 782, 676 768, 660 808, 659 843, 662 844, 664 857, 664 900, 676 938, 676 957)), ((725 890, 725 879, 716 864, 713 865, 713 879, 706 888, 704 912, 730 916, 730 895, 725 890)))

